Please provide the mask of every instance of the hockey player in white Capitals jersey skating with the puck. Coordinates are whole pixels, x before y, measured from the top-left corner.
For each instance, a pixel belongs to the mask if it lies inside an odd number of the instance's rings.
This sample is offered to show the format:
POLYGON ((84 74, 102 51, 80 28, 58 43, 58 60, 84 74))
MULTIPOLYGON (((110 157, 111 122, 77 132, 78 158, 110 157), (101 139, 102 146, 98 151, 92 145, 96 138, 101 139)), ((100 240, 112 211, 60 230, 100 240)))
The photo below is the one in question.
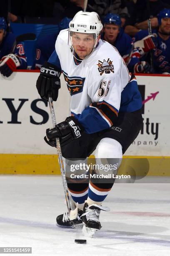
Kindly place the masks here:
MULTIPOLYGON (((80 11, 69 27, 60 32, 55 51, 37 79, 40 96, 48 100, 50 92, 56 101, 63 70, 71 96, 71 116, 47 129, 45 141, 55 146, 55 138, 60 138, 62 156, 70 161, 86 159, 96 149, 96 159, 120 159, 118 168, 143 123, 138 84, 117 49, 100 39, 102 23, 97 13, 80 11)), ((68 182, 78 215, 70 220, 65 212, 57 217, 57 224, 83 222, 86 229, 99 230, 100 210, 108 210, 102 202, 113 183, 114 179, 106 183, 97 178, 68 182)))

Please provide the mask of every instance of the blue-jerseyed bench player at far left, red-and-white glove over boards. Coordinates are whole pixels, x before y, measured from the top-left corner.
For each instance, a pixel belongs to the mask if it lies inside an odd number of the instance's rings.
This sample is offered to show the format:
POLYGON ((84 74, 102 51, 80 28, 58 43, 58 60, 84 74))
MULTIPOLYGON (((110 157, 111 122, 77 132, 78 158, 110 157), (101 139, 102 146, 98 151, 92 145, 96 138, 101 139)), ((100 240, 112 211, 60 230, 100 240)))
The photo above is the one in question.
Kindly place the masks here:
POLYGON ((0 73, 9 77, 15 69, 27 69, 24 46, 16 44, 16 36, 7 33, 5 19, 0 18, 0 73))

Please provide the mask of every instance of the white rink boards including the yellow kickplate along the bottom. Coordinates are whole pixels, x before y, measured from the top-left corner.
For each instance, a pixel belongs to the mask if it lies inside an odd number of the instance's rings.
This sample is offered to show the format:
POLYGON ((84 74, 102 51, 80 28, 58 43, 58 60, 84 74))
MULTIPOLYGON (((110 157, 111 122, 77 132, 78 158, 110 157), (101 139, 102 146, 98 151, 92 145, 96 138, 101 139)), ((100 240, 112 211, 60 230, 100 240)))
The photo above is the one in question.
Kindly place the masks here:
MULTIPOLYGON (((0 76, 1 174, 60 174, 56 150, 43 140, 52 124, 47 102, 37 94, 37 77, 37 72, 0 76)), ((143 98, 143 128, 126 152, 120 172, 127 174, 135 168, 139 175, 147 170, 148 175, 170 176, 170 76, 138 75, 137 80, 143 98), (134 158, 141 159, 135 166, 134 158), (140 170, 140 166, 145 168, 140 170)), ((55 102, 57 122, 69 115, 70 95, 63 77, 61 82, 55 102)))

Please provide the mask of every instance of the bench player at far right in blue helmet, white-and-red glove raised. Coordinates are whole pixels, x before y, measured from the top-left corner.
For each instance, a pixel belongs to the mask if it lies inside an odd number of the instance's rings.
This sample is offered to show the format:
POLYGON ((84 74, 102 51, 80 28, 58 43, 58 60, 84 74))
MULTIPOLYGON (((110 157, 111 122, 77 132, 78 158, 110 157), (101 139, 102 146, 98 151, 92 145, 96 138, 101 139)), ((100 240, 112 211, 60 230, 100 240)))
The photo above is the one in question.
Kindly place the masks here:
POLYGON ((134 66, 136 73, 148 73, 150 54, 147 53, 153 51, 153 73, 170 74, 170 9, 160 11, 158 24, 159 27, 153 30, 154 36, 151 38, 148 37, 148 30, 135 35, 136 48, 140 51, 140 58, 134 66))

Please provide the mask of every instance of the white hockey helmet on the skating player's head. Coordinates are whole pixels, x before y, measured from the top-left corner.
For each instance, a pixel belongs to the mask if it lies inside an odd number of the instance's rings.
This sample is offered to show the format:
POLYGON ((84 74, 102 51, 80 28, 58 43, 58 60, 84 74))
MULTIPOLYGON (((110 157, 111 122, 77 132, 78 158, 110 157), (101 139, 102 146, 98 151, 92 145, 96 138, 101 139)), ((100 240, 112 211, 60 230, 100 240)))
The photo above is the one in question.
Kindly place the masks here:
POLYGON ((79 11, 69 23, 70 32, 95 34, 96 42, 93 49, 97 45, 97 39, 102 27, 100 17, 95 12, 79 11))

